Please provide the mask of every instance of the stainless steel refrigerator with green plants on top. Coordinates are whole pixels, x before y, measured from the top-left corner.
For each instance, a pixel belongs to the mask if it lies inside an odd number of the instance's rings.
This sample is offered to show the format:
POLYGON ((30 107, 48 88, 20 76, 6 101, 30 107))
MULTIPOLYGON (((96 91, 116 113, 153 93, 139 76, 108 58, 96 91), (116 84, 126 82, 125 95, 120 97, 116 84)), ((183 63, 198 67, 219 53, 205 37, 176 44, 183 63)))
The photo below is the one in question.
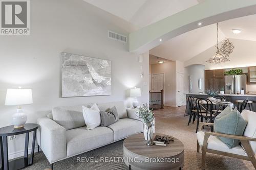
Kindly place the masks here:
POLYGON ((246 91, 246 75, 225 76, 225 93, 237 94, 241 90, 246 91))

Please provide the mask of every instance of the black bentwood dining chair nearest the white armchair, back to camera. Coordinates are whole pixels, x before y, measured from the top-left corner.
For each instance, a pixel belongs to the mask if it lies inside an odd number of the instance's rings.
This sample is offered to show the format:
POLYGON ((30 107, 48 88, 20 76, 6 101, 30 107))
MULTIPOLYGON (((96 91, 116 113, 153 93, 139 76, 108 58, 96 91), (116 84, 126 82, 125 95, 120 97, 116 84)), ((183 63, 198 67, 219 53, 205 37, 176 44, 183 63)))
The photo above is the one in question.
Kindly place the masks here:
MULTIPOLYGON (((210 123, 214 123, 215 115, 212 114, 212 107, 213 107, 213 104, 209 99, 199 98, 196 100, 196 108, 197 108, 196 133, 198 131, 199 121, 203 122, 203 118, 205 118, 206 121, 209 120, 210 123)), ((211 129, 211 132, 214 131, 212 126, 210 127, 210 129, 211 129)))

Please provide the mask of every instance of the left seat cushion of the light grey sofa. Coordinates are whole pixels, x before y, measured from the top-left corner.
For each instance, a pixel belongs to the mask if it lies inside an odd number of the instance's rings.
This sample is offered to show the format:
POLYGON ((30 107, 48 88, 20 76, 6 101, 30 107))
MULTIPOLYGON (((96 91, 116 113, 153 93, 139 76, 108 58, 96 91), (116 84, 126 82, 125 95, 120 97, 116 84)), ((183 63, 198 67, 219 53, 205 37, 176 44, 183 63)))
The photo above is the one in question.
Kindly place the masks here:
POLYGON ((114 132, 110 128, 97 127, 87 130, 86 127, 71 129, 66 132, 67 156, 74 156, 99 148, 114 141, 114 132))

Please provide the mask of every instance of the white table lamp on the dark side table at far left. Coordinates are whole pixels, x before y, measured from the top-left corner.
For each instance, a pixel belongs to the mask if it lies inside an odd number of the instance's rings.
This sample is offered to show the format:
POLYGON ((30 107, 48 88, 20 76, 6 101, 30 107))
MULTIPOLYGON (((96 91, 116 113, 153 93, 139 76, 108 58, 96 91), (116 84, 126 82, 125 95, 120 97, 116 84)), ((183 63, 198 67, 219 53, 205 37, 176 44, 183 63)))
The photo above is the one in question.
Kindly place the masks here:
POLYGON ((5 105, 17 106, 17 112, 12 115, 12 125, 15 129, 23 128, 27 121, 27 115, 23 112, 20 105, 32 104, 32 90, 31 89, 7 89, 5 105))

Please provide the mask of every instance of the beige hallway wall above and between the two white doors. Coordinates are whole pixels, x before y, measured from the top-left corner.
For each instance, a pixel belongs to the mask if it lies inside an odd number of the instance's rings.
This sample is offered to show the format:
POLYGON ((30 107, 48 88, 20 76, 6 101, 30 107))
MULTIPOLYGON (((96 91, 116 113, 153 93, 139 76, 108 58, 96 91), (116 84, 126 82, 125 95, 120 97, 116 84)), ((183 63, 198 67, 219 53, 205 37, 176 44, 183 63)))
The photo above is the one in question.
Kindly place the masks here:
POLYGON ((152 74, 164 74, 164 105, 175 106, 175 62, 166 61, 162 64, 151 65, 152 74))

